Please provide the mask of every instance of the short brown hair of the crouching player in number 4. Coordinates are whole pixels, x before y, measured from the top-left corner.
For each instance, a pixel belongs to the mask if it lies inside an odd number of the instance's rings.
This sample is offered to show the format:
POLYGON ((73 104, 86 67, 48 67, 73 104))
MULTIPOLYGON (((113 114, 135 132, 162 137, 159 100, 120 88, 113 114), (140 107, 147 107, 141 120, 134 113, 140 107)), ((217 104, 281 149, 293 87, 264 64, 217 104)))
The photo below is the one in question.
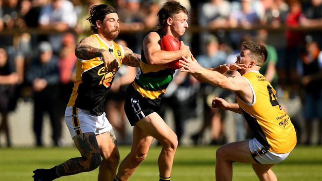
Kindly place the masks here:
POLYGON ((256 60, 257 66, 263 66, 267 59, 267 49, 264 45, 259 45, 252 41, 243 42, 242 46, 251 51, 251 58, 256 60))

